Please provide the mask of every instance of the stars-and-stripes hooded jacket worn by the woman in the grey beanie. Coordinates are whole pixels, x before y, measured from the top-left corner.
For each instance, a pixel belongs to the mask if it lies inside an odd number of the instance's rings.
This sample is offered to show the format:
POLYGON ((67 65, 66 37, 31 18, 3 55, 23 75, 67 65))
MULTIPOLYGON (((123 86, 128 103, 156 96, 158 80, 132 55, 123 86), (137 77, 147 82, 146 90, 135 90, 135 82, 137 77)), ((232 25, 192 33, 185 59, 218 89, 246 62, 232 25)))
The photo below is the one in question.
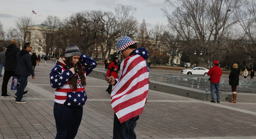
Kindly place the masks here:
MULTIPOLYGON (((85 54, 81 54, 79 62, 82 66, 90 65, 89 68, 83 71, 85 77, 97 66, 95 60, 85 54)), ((60 57, 50 72, 51 87, 56 88, 54 91, 54 102, 71 107, 82 107, 87 99, 85 87, 81 86, 79 75, 77 73, 73 75, 73 73, 66 68, 65 58, 60 57), (77 90, 75 91, 69 86, 69 80, 72 76, 78 77, 77 90)))

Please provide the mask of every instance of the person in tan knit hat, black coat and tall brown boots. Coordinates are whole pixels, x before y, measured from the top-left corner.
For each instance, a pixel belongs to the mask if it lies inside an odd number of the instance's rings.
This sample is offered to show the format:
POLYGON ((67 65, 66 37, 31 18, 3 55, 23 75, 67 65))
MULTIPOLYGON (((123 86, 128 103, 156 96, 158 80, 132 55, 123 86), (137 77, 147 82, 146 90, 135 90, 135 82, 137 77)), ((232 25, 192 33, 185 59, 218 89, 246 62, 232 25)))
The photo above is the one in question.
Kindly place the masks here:
POLYGON ((230 103, 236 103, 236 87, 239 85, 240 69, 238 65, 233 64, 233 70, 229 74, 229 85, 231 85, 233 100, 230 103))

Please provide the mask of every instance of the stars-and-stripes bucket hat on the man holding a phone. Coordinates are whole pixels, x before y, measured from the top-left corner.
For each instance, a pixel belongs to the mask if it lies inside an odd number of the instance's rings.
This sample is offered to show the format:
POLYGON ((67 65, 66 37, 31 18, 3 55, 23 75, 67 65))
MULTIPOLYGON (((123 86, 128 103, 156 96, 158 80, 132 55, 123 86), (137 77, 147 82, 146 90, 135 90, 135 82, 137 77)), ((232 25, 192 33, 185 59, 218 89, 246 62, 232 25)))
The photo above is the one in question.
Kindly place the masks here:
POLYGON ((119 52, 121 50, 124 50, 125 48, 127 48, 128 46, 130 45, 133 45, 133 44, 136 44, 135 41, 131 40, 130 37, 128 36, 125 36, 125 37, 122 37, 120 38, 117 43, 116 43, 116 46, 117 46, 117 54, 120 54, 119 52))

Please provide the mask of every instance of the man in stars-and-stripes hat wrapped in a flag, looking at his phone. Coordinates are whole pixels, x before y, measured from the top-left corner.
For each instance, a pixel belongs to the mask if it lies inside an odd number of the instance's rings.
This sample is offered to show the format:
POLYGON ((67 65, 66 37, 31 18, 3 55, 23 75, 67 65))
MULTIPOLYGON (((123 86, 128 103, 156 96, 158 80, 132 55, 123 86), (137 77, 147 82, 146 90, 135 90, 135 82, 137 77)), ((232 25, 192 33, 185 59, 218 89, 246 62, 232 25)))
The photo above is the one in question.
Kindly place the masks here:
POLYGON ((114 109, 113 139, 136 138, 134 128, 142 113, 148 94, 149 68, 145 59, 148 51, 137 48, 136 42, 125 36, 117 41, 117 54, 125 59, 120 66, 120 77, 106 79, 115 85, 111 93, 114 109))

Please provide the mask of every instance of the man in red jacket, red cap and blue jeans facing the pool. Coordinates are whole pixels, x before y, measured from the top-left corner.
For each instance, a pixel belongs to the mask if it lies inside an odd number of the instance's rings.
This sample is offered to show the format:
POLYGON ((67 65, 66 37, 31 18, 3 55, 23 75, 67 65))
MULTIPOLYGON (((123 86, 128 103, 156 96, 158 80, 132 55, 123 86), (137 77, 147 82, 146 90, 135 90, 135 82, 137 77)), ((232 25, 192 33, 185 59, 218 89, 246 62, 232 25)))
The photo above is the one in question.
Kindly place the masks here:
POLYGON ((214 94, 214 89, 216 90, 216 96, 217 96, 217 103, 220 101, 220 91, 219 91, 219 84, 221 80, 222 70, 219 67, 219 61, 214 60, 213 67, 210 68, 207 75, 210 76, 210 90, 211 90, 211 101, 215 103, 216 98, 214 94))

